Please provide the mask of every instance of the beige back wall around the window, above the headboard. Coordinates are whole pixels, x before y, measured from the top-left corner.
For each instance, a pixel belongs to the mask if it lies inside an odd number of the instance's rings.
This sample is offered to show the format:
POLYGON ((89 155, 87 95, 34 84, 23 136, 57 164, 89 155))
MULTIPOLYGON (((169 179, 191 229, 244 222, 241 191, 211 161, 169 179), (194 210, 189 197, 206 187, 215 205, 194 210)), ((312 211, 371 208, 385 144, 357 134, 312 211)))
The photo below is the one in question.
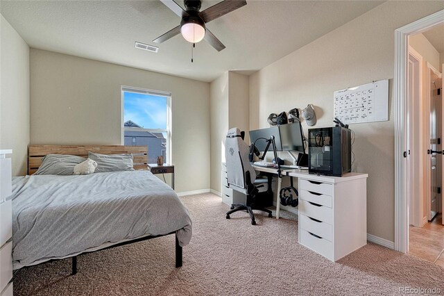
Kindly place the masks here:
POLYGON ((210 83, 31 49, 31 144, 121 145, 121 85, 172 93, 176 191, 210 188, 210 83))

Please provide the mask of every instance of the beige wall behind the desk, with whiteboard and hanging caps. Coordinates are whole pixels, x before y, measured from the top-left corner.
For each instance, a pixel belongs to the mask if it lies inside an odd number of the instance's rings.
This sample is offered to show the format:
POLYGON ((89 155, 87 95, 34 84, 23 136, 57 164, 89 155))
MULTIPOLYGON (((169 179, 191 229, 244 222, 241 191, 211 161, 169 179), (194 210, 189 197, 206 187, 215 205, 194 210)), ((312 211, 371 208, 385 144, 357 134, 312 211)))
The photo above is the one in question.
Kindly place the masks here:
MULTIPOLYGON (((389 120, 352 124, 353 171, 366 172, 367 229, 394 240, 393 71, 395 29, 444 8, 443 1, 388 1, 250 76, 251 123, 267 127, 269 113, 314 104, 318 122, 333 125, 333 92, 389 79, 389 120)), ((302 122, 307 135, 307 124, 302 122)))

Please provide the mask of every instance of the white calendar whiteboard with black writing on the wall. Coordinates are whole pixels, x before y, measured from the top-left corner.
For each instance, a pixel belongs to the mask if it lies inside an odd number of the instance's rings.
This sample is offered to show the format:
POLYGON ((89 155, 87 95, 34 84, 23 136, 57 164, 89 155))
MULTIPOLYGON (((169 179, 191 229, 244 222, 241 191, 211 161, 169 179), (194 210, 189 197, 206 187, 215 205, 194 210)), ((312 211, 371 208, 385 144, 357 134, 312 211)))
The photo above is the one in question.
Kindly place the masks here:
POLYGON ((388 79, 334 92, 334 117, 344 124, 388 120, 388 79))

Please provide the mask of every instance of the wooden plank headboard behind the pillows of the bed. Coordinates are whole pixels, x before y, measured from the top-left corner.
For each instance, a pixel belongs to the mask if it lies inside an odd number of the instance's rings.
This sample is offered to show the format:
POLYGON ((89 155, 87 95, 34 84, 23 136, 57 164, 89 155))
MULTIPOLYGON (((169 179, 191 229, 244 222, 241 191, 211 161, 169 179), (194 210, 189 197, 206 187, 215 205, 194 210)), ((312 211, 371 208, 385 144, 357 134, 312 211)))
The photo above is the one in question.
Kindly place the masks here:
POLYGON ((28 148, 28 174, 34 174, 47 154, 69 154, 88 157, 88 151, 100 154, 133 154, 134 169, 147 170, 148 147, 123 145, 30 145, 28 148))

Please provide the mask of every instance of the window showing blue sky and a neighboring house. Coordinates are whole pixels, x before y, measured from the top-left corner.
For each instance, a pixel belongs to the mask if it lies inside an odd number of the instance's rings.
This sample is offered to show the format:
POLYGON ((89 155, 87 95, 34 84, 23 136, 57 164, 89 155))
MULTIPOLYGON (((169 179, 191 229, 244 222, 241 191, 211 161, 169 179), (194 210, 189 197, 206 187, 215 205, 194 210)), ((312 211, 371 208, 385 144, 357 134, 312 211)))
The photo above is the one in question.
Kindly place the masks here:
POLYGON ((148 146, 148 163, 171 163, 171 93, 122 86, 123 145, 148 146))

